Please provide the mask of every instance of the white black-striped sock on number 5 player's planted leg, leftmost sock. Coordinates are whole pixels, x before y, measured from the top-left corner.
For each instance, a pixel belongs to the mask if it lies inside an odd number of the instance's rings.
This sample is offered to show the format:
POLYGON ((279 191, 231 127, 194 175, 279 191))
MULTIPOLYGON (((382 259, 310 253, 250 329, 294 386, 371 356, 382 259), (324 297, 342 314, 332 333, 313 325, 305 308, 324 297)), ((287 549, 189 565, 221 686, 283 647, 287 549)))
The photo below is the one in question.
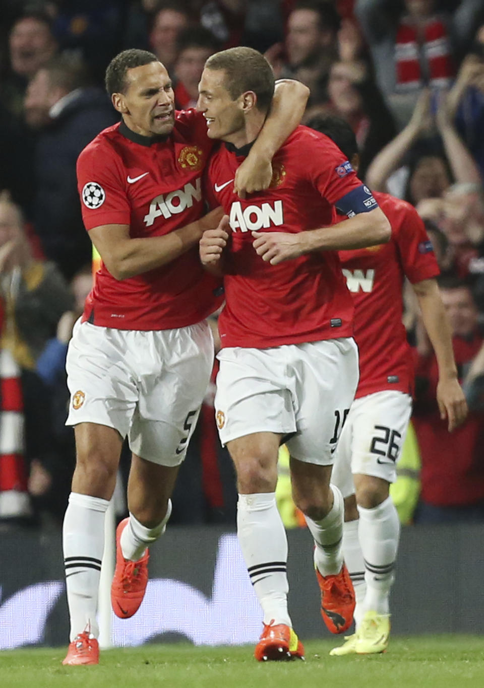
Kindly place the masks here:
POLYGON ((71 641, 86 628, 98 637, 96 612, 108 505, 107 499, 100 497, 75 492, 69 495, 62 540, 71 641))

